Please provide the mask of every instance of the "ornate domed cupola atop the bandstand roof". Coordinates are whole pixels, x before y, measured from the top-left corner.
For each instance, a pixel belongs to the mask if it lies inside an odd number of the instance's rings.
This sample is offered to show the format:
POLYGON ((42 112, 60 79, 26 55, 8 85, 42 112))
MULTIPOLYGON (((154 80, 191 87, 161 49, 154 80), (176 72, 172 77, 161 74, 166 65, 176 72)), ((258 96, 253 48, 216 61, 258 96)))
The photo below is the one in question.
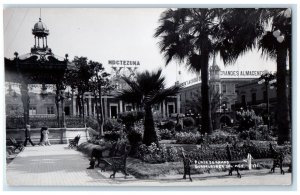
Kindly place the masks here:
POLYGON ((47 36, 49 35, 49 30, 47 26, 39 18, 39 21, 35 23, 32 34, 34 35, 34 47, 31 48, 31 53, 45 52, 51 53, 51 49, 48 48, 47 36))

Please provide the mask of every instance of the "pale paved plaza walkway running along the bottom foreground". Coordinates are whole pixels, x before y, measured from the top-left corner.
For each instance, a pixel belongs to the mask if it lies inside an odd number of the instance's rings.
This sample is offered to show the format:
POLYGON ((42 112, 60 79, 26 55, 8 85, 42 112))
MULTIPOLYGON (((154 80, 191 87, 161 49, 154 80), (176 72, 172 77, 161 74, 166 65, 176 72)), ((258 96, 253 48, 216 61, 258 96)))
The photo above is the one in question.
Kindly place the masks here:
MULTIPOLYGON (((86 169, 88 158, 67 145, 29 146, 7 165, 8 186, 223 186, 223 185, 290 185, 291 174, 280 175, 262 169, 242 174, 239 179, 227 173, 193 175, 193 182, 182 175, 168 175, 140 180, 121 173, 110 179, 111 172, 86 169)), ((132 166, 130 161, 128 166, 132 166)))

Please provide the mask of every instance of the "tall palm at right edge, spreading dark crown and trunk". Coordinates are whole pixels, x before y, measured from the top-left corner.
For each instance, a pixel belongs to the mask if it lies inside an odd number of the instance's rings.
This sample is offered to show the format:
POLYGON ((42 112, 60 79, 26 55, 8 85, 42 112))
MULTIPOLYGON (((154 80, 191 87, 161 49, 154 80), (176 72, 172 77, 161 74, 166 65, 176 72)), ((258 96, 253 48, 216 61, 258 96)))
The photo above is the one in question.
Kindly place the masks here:
POLYGON ((289 9, 229 9, 223 16, 220 27, 220 36, 224 37, 224 41, 218 46, 225 64, 234 62, 256 45, 259 45, 263 55, 276 59, 278 144, 290 140, 286 90, 288 53, 291 65, 291 18, 286 14, 288 11, 289 9), (266 26, 270 24, 273 32, 265 32, 266 26), (276 38, 273 33, 282 35, 276 38))

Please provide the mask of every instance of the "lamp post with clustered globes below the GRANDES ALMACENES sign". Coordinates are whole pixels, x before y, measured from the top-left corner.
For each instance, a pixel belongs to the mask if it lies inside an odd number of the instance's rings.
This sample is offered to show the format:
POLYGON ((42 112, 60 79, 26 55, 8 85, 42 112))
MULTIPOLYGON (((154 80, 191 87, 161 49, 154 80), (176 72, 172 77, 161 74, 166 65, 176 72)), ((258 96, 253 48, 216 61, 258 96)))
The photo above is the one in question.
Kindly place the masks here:
POLYGON ((265 74, 261 75, 258 79, 258 84, 259 85, 265 84, 265 88, 266 88, 268 130, 270 130, 269 85, 270 85, 270 88, 273 88, 275 83, 276 83, 276 78, 273 74, 270 74, 270 73, 265 73, 265 74))

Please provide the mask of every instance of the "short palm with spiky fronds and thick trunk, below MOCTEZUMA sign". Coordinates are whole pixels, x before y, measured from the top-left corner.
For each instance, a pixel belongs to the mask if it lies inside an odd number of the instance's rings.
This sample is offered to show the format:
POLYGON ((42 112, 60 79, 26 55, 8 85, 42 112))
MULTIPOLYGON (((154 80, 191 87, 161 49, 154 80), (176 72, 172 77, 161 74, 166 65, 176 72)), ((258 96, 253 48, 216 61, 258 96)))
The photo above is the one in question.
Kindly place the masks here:
POLYGON ((151 145, 158 144, 157 135, 155 132, 152 106, 161 103, 168 96, 176 95, 179 91, 179 86, 165 88, 165 77, 161 76, 162 70, 155 72, 145 71, 137 74, 136 81, 123 77, 123 80, 128 84, 127 89, 123 89, 118 98, 125 102, 136 103, 139 108, 145 112, 144 120, 144 137, 143 143, 151 145))

